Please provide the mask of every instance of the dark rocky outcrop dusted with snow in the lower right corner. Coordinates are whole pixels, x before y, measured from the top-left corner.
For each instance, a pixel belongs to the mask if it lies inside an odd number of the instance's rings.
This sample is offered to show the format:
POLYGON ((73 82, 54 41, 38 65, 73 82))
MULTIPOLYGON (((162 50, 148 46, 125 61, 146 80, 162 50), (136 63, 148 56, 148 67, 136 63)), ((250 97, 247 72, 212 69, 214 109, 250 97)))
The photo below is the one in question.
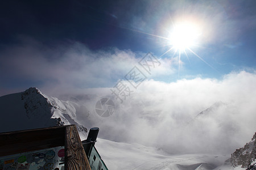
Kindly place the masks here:
POLYGON ((256 169, 256 132, 249 143, 234 151, 230 162, 233 167, 241 166, 242 168, 256 169))

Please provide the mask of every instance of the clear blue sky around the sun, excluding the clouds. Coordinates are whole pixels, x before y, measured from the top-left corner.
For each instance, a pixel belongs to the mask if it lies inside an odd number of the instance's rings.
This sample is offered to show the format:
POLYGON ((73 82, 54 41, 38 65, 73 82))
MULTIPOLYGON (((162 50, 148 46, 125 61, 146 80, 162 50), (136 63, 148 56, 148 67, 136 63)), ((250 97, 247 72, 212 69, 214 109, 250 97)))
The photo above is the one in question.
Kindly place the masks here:
MULTIPOLYGON (((24 88, 30 85, 44 86, 46 83, 42 79, 29 77, 27 72, 32 69, 20 73, 35 63, 26 62, 25 69, 20 67, 16 70, 15 65, 7 62, 8 59, 16 61, 26 56, 22 49, 24 47, 27 55, 40 53, 40 59, 52 61, 63 60, 63 56, 67 56, 64 49, 74 44, 84 45, 90 53, 97 53, 98 58, 104 58, 100 56, 102 51, 116 53, 112 49, 129 50, 135 53, 135 58, 143 57, 147 52, 159 57, 171 46, 166 46, 166 40, 157 36, 166 37, 168 29, 178 18, 196 18, 204 23, 204 37, 199 46, 192 50, 210 66, 187 51, 188 57, 181 54, 179 76, 177 65, 172 65, 176 68, 175 74, 165 73, 153 79, 164 82, 197 76, 221 79, 232 71, 254 71, 255 8, 256 2, 252 0, 1 1, 0 71, 5 75, 1 76, 0 87, 11 91, 11 88, 18 88, 18 84, 24 88), (12 49, 15 49, 15 57, 10 57, 14 53, 12 49), (19 50, 22 50, 20 56, 16 55, 20 53, 19 50)), ((175 60, 177 57, 177 53, 174 55, 174 51, 171 51, 162 58, 175 60)), ((110 76, 110 82, 114 84, 120 79, 118 76, 110 76)), ((60 81, 52 77, 48 79, 60 81)), ((110 82, 102 87, 112 86, 110 82)), ((101 87, 97 83, 90 84, 88 87, 101 87)), ((6 93, 2 91, 2 94, 6 93)))

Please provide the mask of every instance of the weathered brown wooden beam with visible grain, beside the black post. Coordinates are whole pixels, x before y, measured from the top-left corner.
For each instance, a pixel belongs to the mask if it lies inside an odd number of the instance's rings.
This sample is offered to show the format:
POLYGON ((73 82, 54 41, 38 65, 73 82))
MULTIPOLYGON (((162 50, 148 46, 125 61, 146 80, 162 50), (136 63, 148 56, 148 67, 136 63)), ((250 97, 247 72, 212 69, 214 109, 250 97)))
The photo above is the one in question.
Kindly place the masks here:
POLYGON ((65 170, 91 170, 76 126, 65 130, 65 170))

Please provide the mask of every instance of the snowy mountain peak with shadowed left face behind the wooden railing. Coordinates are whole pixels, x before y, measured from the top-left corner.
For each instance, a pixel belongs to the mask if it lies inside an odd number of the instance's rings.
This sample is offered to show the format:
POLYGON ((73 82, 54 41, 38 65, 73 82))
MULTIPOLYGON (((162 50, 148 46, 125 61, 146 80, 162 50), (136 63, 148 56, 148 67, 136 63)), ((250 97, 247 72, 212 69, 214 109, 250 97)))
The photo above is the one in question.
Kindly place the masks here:
POLYGON ((46 96, 35 87, 1 96, 0 132, 75 124, 79 133, 86 136, 88 130, 76 117, 78 107, 72 101, 46 96))

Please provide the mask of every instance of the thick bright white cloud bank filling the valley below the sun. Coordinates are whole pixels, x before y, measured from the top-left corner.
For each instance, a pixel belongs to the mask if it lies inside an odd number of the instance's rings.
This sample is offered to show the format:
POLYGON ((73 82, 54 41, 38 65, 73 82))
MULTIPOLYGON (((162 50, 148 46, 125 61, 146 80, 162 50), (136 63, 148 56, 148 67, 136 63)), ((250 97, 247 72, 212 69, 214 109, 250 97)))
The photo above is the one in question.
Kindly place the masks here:
POLYGON ((102 138, 156 146, 174 154, 231 154, 249 142, 256 130, 255 83, 256 74, 245 71, 222 80, 164 83, 151 79, 123 104, 115 101, 111 117, 95 113, 96 101, 85 105, 91 111, 91 125, 100 127, 102 138))

